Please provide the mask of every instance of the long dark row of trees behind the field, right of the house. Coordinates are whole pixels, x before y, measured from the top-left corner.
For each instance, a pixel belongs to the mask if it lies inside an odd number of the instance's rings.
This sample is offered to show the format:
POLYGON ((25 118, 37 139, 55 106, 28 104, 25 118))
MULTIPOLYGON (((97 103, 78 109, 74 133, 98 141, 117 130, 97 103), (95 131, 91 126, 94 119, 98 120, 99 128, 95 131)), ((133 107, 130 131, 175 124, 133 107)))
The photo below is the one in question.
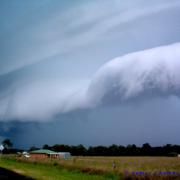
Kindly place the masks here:
POLYGON ((142 147, 137 147, 135 144, 127 146, 113 144, 111 146, 90 146, 88 148, 81 144, 77 146, 64 144, 49 146, 45 144, 42 148, 56 152, 70 152, 74 156, 177 156, 180 154, 180 145, 166 144, 151 147, 149 143, 143 144, 142 147))

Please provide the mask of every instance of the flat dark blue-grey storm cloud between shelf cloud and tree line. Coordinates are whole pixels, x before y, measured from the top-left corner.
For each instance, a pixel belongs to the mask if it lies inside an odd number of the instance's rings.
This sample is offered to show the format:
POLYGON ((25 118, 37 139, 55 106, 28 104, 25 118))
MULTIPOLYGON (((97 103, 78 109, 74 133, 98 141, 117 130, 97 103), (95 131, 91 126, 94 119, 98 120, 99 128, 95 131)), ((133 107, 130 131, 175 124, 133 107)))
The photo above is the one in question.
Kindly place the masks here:
MULTIPOLYGON (((98 107, 59 114, 51 122, 23 122, 11 133, 18 146, 43 144, 151 145, 177 144, 180 127, 180 100, 150 99, 141 104, 98 107), (47 136, 48 135, 48 136, 47 136)), ((12 129, 11 129, 12 130, 12 129)))

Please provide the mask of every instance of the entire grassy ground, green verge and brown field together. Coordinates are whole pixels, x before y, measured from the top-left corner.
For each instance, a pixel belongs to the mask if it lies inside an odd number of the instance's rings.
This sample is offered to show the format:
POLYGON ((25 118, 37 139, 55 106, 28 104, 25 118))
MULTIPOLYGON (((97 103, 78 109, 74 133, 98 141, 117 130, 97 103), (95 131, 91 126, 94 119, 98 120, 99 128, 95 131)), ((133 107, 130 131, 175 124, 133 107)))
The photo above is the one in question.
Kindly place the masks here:
POLYGON ((34 179, 180 179, 177 157, 72 157, 24 159, 4 156, 0 167, 34 179))

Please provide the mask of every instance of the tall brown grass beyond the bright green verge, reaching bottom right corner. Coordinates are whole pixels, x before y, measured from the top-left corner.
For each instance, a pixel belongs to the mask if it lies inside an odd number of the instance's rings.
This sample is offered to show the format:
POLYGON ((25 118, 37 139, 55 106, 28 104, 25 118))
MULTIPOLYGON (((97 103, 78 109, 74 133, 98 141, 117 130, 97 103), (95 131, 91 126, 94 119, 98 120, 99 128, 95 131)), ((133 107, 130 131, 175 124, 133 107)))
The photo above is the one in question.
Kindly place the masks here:
POLYGON ((70 159, 11 160, 42 164, 90 175, 103 175, 109 179, 180 179, 180 158, 177 157, 72 157, 70 159), (174 174, 173 174, 174 173, 174 174), (179 173, 179 174, 178 174, 179 173))

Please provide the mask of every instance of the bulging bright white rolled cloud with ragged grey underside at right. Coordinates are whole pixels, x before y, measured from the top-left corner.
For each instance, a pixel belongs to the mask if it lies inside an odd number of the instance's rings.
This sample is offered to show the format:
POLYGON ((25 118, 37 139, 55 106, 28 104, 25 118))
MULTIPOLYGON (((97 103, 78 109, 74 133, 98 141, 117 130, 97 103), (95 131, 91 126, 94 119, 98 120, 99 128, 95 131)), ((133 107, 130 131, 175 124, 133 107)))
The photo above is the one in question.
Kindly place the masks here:
POLYGON ((180 43, 130 53, 99 69, 88 96, 97 104, 103 100, 122 102, 141 96, 177 95, 179 69, 180 43))

